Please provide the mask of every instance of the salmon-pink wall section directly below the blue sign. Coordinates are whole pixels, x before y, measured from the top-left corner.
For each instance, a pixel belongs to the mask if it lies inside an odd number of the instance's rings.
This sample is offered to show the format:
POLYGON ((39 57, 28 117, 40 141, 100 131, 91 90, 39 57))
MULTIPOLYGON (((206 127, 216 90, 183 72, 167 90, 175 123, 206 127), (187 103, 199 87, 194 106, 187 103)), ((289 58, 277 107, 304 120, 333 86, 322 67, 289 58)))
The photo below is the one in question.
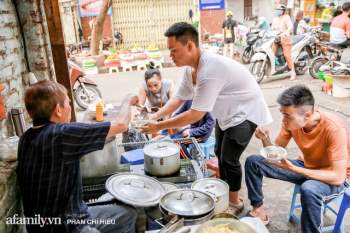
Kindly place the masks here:
POLYGON ((222 33, 225 10, 205 10, 200 12, 201 35, 222 33))

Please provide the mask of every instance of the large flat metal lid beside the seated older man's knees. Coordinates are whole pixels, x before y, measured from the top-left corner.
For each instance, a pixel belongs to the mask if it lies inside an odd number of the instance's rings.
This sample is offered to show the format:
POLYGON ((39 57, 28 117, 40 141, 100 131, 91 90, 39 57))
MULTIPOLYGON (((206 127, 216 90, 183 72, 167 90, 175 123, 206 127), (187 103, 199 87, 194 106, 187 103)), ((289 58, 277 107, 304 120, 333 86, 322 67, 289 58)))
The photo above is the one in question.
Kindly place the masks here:
POLYGON ((106 189, 116 199, 136 207, 157 205, 165 189, 156 179, 136 174, 120 173, 108 178, 106 189))

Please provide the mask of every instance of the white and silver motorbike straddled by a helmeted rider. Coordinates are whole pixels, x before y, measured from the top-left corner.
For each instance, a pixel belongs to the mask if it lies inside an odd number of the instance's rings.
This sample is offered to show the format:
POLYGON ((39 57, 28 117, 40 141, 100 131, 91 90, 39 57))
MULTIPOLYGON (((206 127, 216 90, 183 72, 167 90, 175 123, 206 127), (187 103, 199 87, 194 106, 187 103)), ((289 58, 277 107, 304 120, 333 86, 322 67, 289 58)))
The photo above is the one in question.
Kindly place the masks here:
MULTIPOLYGON (((316 44, 316 38, 314 31, 292 38, 292 60, 297 75, 306 73, 310 60, 313 58, 312 48, 316 44)), ((284 78, 289 71, 280 40, 279 34, 270 33, 265 36, 261 46, 257 47, 249 69, 258 83, 264 79, 284 78), (272 50, 274 43, 279 45, 276 54, 272 50)))

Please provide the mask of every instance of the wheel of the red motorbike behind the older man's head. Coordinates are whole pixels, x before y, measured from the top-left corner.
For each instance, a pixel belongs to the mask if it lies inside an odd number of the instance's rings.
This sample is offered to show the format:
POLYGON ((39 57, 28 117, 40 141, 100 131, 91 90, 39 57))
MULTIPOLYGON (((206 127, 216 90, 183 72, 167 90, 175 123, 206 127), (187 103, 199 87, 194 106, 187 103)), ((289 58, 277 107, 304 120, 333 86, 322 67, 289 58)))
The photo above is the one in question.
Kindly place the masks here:
POLYGON ((85 92, 85 90, 81 85, 79 85, 77 89, 74 91, 74 99, 78 104, 78 106, 83 110, 86 110, 89 104, 93 103, 98 98, 102 98, 102 94, 96 86, 91 84, 85 84, 85 88, 89 92, 89 95, 91 96, 90 100, 87 96, 88 93, 85 92))

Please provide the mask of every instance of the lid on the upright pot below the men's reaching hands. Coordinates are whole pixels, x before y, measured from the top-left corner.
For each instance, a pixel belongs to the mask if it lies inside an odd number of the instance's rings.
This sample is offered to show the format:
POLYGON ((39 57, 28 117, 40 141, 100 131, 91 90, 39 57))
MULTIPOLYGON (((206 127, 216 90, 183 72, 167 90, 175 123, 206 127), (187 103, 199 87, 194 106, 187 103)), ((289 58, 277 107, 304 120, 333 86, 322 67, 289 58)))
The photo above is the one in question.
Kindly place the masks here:
POLYGON ((168 157, 179 153, 179 147, 170 141, 154 142, 146 145, 143 152, 151 157, 168 157))

